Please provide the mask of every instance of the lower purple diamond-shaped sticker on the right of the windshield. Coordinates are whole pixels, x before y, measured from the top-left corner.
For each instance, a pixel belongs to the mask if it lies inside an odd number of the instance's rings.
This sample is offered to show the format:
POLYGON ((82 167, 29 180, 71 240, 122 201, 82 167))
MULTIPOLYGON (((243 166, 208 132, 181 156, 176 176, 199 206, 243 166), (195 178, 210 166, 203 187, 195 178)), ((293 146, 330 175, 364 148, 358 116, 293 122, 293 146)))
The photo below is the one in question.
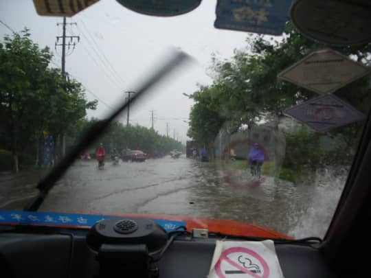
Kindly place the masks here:
POLYGON ((322 95, 284 111, 316 131, 327 131, 361 121, 365 115, 335 95, 322 95))

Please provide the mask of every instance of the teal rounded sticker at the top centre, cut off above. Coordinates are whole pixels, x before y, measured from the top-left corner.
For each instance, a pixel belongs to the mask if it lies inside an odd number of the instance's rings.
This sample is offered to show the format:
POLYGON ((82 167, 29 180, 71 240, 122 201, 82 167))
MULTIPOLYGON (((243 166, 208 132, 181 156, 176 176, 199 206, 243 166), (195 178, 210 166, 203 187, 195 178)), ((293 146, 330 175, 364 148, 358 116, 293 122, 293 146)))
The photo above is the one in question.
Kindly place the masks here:
POLYGON ((201 0, 117 0, 118 3, 138 12, 151 16, 177 16, 197 8, 201 0))

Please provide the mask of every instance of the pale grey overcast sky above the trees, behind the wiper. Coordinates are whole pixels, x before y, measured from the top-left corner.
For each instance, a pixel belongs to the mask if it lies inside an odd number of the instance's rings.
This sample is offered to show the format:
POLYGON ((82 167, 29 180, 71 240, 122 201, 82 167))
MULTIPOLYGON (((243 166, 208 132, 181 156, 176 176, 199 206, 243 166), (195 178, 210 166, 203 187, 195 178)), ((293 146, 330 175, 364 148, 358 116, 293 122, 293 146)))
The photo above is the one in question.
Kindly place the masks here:
MULTIPOLYGON (((234 49, 246 46, 247 33, 214 28, 216 0, 203 0, 196 10, 181 16, 161 18, 138 14, 114 0, 101 0, 90 8, 67 19, 67 35, 80 36, 80 43, 67 56, 66 71, 82 82, 91 92, 89 100, 100 100, 96 111, 89 117, 104 117, 122 100, 124 91, 142 76, 155 69, 151 67, 164 57, 169 47, 181 48, 197 62, 161 83, 150 100, 131 109, 131 123, 150 127, 150 111, 154 111, 155 130, 186 141, 192 101, 182 93, 192 93, 196 84, 210 84, 207 67, 212 53, 229 58, 234 49), (102 54, 103 53, 103 54, 102 54), (108 62, 107 62, 108 61, 108 62), (94 94, 94 95, 93 95, 94 94), (108 105, 108 106, 107 106, 108 105)), ((56 36, 62 35, 63 18, 38 16, 30 0, 0 1, 0 20, 19 32, 28 27, 32 39, 41 47, 49 46, 55 54, 54 67, 60 65, 60 47, 54 49, 56 36)), ((10 31, 0 25, 0 36, 10 31)), ((71 50, 71 49, 70 49, 71 50)), ((121 121, 126 122, 126 115, 121 121)))

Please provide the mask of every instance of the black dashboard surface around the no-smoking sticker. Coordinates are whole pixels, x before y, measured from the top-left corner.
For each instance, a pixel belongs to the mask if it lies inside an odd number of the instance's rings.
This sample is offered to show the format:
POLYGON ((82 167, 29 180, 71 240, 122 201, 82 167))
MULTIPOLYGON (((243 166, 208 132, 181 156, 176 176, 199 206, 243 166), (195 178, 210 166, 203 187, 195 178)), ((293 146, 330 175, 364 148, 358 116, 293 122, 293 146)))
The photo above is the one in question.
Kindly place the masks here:
MULTIPOLYGON (((87 244, 87 230, 0 228, 2 277, 99 277, 100 266, 87 244)), ((207 277, 216 240, 221 238, 177 236, 159 260, 159 277, 207 277)), ((286 278, 336 277, 313 246, 280 243, 275 248, 286 278)))

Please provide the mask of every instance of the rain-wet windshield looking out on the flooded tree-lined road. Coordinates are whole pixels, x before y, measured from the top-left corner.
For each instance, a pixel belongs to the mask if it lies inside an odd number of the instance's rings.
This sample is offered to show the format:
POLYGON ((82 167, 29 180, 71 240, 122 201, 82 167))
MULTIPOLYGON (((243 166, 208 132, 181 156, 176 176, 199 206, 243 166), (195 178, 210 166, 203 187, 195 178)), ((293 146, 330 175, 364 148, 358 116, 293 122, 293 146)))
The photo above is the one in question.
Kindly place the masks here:
POLYGON ((1 1, 0 209, 22 210, 85 130, 126 102, 40 211, 236 220, 324 237, 370 109, 370 46, 328 47, 290 20, 280 36, 216 29, 216 1, 170 17, 119 2, 64 21, 32 1, 1 1), (131 103, 171 49, 192 65, 131 103), (347 64, 313 62, 322 57, 347 64), (316 67, 297 73, 304 64, 316 67))

